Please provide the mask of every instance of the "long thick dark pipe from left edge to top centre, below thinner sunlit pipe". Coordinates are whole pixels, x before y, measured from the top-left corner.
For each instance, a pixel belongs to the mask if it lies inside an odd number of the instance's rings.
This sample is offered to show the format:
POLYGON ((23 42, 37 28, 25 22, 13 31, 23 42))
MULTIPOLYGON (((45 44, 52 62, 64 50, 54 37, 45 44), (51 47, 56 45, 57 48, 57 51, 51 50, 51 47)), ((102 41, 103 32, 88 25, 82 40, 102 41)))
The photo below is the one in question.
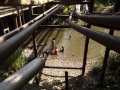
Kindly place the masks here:
POLYGON ((30 27, 22 30, 14 37, 11 37, 10 39, 0 44, 0 65, 4 63, 5 60, 28 39, 28 37, 39 27, 40 24, 42 24, 46 19, 52 16, 52 14, 60 10, 61 7, 62 5, 59 5, 55 10, 51 11, 47 16, 41 18, 30 27))

